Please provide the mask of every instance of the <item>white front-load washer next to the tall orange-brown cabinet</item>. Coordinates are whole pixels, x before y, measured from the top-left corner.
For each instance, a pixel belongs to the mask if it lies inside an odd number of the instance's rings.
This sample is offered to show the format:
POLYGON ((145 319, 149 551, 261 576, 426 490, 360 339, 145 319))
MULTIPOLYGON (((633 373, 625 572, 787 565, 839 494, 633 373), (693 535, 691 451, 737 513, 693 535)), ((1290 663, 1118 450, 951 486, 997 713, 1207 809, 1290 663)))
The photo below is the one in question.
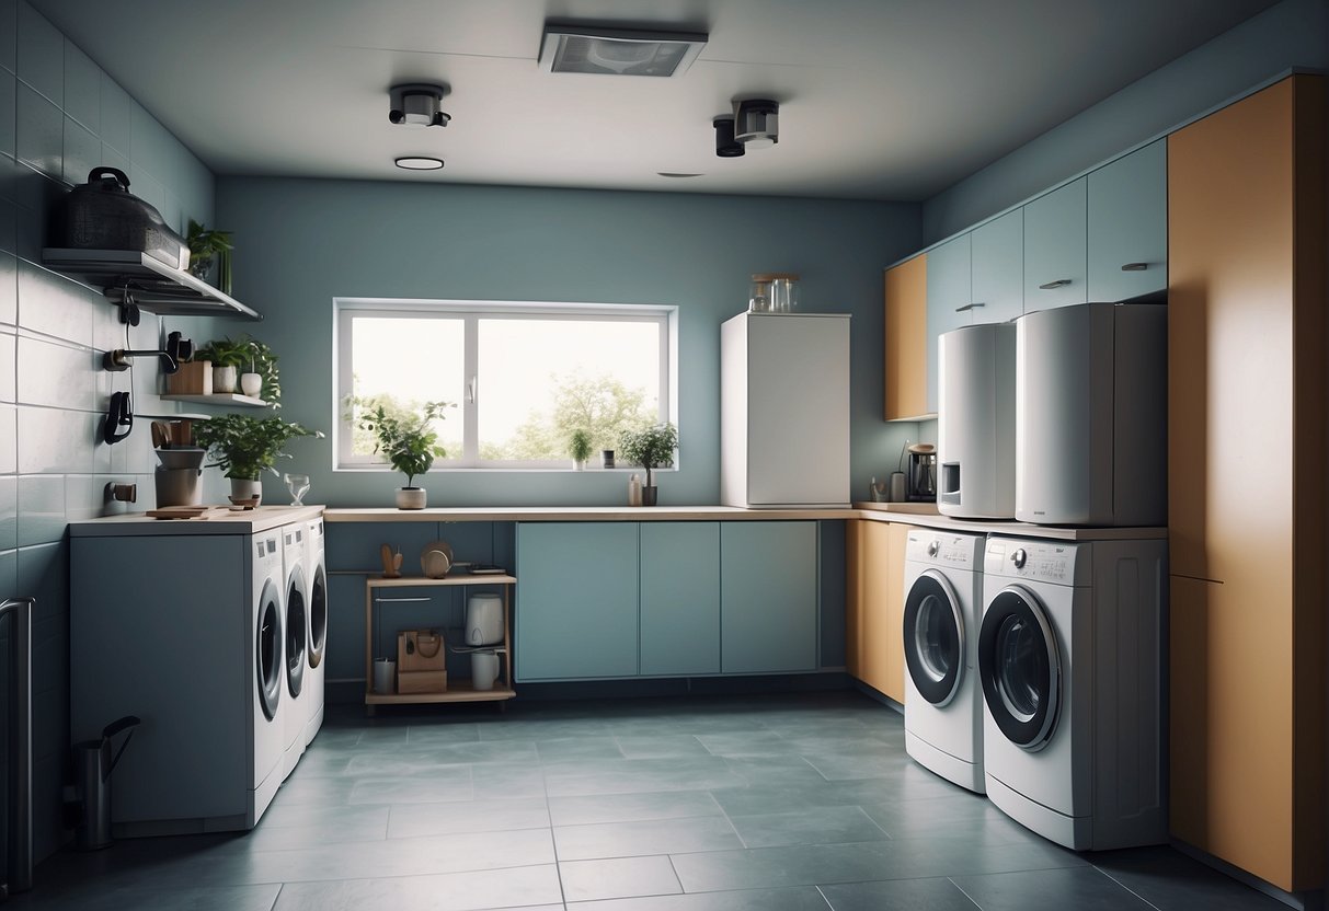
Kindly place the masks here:
POLYGON ((1168 838, 1167 542, 987 540, 987 797, 1074 850, 1168 838))

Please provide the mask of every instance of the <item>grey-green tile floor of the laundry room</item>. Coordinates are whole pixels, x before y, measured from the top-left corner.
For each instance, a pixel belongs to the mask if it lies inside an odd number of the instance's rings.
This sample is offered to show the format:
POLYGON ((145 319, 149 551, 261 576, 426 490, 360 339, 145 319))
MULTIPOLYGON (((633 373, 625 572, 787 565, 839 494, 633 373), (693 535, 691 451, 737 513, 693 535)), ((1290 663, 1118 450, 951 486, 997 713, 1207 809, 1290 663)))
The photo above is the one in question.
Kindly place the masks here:
POLYGON ((857 693, 384 714, 332 713, 253 833, 62 853, 11 907, 1284 907, 1167 847, 1031 835, 857 693))

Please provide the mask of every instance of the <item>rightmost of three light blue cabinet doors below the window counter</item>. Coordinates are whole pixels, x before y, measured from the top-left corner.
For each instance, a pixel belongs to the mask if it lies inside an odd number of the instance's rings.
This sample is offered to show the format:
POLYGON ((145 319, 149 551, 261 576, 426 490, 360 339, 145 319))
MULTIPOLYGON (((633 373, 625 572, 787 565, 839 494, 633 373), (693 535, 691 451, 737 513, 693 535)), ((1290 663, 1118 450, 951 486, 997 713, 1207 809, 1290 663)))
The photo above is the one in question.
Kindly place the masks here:
POLYGON ((720 526, 720 669, 781 673, 816 668, 815 522, 720 526))

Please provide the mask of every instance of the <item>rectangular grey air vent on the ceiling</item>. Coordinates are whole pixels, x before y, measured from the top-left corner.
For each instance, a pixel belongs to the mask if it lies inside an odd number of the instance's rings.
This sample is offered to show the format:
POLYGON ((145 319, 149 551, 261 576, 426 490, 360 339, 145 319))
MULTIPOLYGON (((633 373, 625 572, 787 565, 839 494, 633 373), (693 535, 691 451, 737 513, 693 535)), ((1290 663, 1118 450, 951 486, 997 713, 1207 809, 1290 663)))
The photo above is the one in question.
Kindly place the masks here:
POLYGON ((680 76, 706 46, 706 36, 626 28, 545 25, 540 68, 550 73, 680 76))

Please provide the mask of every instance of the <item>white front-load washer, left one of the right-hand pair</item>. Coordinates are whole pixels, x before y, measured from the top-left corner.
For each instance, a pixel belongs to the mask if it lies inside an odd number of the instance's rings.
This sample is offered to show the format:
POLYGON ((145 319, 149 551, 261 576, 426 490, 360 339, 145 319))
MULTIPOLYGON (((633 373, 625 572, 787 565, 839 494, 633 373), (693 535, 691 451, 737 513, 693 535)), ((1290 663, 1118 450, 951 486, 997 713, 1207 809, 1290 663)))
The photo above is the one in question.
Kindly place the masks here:
POLYGON ((905 544, 905 750, 983 793, 978 621, 983 535, 912 529, 905 544))

